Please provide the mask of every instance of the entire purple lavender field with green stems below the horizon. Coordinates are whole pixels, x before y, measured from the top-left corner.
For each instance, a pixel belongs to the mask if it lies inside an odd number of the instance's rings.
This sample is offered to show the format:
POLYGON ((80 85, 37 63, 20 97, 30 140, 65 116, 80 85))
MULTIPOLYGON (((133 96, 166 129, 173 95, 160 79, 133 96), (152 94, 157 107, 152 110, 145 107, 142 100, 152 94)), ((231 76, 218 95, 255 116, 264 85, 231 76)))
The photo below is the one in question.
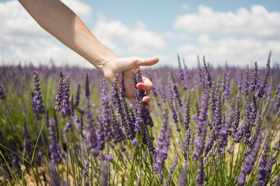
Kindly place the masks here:
MULTIPOLYGON (((123 71, 0 67, 0 185, 280 185, 280 70, 255 62, 123 71), (249 68, 250 67, 250 68, 249 68), (119 88, 119 92, 118 92, 119 88)), ((264 64, 265 62, 262 62, 264 64)))

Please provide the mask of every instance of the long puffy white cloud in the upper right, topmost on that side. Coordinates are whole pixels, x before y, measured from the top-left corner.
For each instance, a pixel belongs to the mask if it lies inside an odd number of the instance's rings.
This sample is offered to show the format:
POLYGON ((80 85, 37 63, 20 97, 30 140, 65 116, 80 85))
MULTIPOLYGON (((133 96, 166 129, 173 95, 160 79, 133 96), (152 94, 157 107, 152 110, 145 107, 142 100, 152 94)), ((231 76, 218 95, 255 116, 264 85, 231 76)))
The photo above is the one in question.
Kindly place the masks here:
POLYGON ((235 12, 215 12, 200 5, 197 13, 178 15, 174 29, 202 33, 243 33, 258 38, 279 39, 280 12, 267 12, 261 5, 251 6, 251 11, 239 8, 235 12))

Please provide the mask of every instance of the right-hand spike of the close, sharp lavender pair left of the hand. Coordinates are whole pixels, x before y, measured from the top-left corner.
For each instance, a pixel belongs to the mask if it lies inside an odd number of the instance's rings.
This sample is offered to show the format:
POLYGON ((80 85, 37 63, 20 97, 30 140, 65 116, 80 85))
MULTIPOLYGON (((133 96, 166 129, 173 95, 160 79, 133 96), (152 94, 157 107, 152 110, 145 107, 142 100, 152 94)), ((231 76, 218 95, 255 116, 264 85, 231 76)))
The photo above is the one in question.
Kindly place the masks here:
POLYGON ((60 116, 63 118, 71 116, 69 84, 70 84, 70 77, 66 76, 66 78, 64 78, 63 80, 63 100, 62 100, 62 108, 60 111, 60 116))

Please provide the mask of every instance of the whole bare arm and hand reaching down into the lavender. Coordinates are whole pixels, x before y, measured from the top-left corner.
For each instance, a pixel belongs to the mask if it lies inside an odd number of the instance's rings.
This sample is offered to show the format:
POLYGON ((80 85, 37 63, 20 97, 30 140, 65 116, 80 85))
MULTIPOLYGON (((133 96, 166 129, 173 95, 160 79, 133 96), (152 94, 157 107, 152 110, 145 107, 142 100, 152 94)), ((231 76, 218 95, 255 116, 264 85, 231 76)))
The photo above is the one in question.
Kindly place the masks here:
MULTIPOLYGON (((97 40, 81 19, 59 0, 18 0, 35 21, 46 31, 60 40, 67 47, 88 60, 103 72, 105 78, 112 83, 115 75, 124 69, 125 97, 134 105, 134 83, 132 73, 137 74, 139 66, 154 65, 159 58, 118 58, 105 45, 97 40)), ((137 88, 145 90, 142 101, 148 112, 152 112, 150 101, 153 98, 153 83, 141 71, 142 83, 137 88)))

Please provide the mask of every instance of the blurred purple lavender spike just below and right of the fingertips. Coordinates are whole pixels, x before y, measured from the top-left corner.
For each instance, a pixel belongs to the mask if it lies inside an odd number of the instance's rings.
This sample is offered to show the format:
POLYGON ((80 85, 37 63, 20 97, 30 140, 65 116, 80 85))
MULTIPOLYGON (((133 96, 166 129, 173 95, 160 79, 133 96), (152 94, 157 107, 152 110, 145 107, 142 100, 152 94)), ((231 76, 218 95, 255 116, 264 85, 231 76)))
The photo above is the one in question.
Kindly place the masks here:
POLYGON ((164 161, 167 159, 167 151, 169 150, 170 145, 170 138, 171 138, 171 128, 168 124, 168 112, 167 108, 165 108, 164 112, 162 113, 162 126, 160 133, 158 134, 158 146, 155 149, 157 153, 157 162, 154 167, 154 171, 157 174, 160 174, 164 161))

